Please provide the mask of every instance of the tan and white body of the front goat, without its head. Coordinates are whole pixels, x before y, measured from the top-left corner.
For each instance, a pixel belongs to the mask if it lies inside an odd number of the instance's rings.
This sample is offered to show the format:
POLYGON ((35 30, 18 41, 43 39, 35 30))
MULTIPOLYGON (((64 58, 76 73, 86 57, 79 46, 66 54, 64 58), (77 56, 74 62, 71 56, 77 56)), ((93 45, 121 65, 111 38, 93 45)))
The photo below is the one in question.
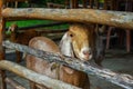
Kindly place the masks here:
MULTIPOLYGON (((30 47, 38 48, 40 50, 61 53, 59 47, 50 39, 45 37, 35 37, 30 43, 30 47)), ((55 69, 51 69, 54 63, 50 63, 44 60, 39 60, 39 58, 33 56, 27 56, 27 67, 32 69, 39 73, 45 75, 48 77, 60 79, 64 82, 74 85, 76 87, 81 87, 83 89, 89 89, 89 79, 88 75, 81 71, 73 70, 68 67, 55 67, 55 69), (71 72, 72 71, 72 72, 71 72), (86 85, 88 83, 88 85, 86 85), (85 86, 86 85, 86 86, 85 86), (85 88, 86 87, 86 88, 85 88)), ((42 88, 44 89, 44 88, 42 88)), ((49 89, 49 88, 48 88, 49 89)))

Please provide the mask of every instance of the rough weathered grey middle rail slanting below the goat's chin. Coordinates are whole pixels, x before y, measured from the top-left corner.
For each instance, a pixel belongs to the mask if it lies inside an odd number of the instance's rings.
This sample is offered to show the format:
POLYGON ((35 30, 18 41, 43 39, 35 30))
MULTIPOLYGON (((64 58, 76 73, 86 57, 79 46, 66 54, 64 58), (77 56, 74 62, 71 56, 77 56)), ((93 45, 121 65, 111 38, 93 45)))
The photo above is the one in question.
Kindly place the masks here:
POLYGON ((18 43, 12 43, 9 41, 3 41, 2 46, 6 48, 16 49, 21 52, 33 55, 35 57, 42 58, 43 60, 47 60, 50 62, 59 62, 59 63, 69 66, 76 70, 86 72, 88 75, 94 75, 98 78, 104 79, 106 81, 115 83, 125 89, 133 89, 133 77, 130 75, 115 73, 109 69, 92 66, 91 63, 83 63, 82 61, 75 58, 70 58, 70 57, 64 57, 64 56, 62 57, 60 55, 41 51, 38 49, 29 48, 27 46, 22 46, 18 43))

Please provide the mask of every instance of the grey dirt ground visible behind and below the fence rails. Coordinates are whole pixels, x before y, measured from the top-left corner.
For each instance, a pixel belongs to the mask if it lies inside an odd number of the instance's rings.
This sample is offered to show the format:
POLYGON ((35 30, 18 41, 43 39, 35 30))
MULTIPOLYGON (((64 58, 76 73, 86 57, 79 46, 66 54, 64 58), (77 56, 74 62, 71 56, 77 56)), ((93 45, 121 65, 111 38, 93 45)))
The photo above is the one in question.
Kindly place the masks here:
MULTIPOLYGON (((16 56, 13 52, 7 53, 7 60, 16 61, 14 59, 16 56)), ((24 66, 24 61, 22 61, 21 65, 24 66)), ((125 50, 120 49, 106 50, 105 59, 103 60, 103 67, 119 73, 129 73, 133 76, 133 53, 126 53, 125 50)), ((8 77, 11 77, 14 80, 19 81, 27 89, 30 89, 28 80, 14 76, 13 73, 7 72, 7 75, 8 77)), ((95 76, 89 77, 91 82, 91 89, 124 89, 103 79, 99 79, 95 76)), ((8 86, 8 89, 13 88, 8 86)))

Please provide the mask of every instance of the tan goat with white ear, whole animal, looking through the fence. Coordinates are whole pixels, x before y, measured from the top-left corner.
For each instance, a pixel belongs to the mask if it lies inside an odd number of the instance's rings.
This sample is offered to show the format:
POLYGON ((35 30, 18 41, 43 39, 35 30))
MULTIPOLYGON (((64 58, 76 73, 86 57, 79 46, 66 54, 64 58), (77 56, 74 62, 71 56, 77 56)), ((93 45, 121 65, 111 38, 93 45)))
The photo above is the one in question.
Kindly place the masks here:
MULTIPOLYGON (((34 37, 30 40, 29 47, 69 57, 75 57, 82 61, 89 61, 92 59, 95 50, 94 39, 95 31, 93 26, 78 23, 72 24, 69 31, 64 33, 59 47, 45 37, 34 37)), ((27 67, 51 78, 60 79, 83 89, 90 89, 88 75, 82 71, 78 71, 65 66, 60 66, 52 70, 51 68, 53 67, 53 63, 39 60, 39 58, 30 55, 27 56, 27 67)), ((31 87, 33 88, 35 85, 31 83, 31 87)), ((45 88, 42 87, 41 89, 45 88)))

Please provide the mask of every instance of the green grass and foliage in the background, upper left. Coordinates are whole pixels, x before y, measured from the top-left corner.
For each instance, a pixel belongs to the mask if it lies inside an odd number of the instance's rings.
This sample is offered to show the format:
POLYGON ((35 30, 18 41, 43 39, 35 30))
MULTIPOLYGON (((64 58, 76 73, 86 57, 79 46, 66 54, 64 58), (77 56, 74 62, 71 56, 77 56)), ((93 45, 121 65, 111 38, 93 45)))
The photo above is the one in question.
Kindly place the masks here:
MULTIPOLYGON (((44 7, 47 2, 54 2, 54 3, 64 3, 65 0, 31 0, 29 3, 34 3, 37 7, 44 7)), ((29 7, 29 3, 25 2, 20 2, 19 8, 27 8, 29 7)), ((43 24, 43 23, 50 23, 53 21, 50 20, 24 20, 24 21, 10 21, 7 22, 6 27, 8 28, 12 23, 17 23, 18 27, 29 27, 29 26, 34 26, 34 24, 43 24)), ((55 26, 55 27, 48 27, 48 29, 66 29, 69 24, 63 24, 63 26, 55 26)))

